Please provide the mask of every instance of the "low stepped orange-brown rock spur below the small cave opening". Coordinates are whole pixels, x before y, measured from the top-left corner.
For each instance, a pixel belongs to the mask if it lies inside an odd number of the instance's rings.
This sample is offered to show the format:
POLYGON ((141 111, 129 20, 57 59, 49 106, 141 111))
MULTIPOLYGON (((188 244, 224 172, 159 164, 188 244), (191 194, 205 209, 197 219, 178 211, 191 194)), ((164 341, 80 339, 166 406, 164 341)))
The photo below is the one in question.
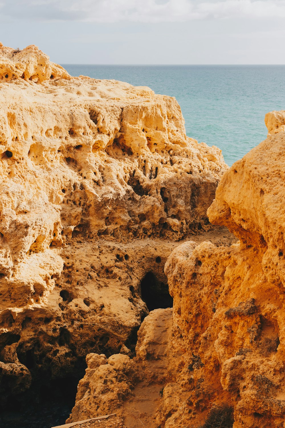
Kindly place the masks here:
POLYGON ((107 361, 105 355, 89 354, 88 368, 78 384, 76 404, 67 423, 112 409, 124 428, 155 426, 156 408, 167 376, 171 327, 172 308, 156 309, 141 324, 135 358, 117 354, 107 361))

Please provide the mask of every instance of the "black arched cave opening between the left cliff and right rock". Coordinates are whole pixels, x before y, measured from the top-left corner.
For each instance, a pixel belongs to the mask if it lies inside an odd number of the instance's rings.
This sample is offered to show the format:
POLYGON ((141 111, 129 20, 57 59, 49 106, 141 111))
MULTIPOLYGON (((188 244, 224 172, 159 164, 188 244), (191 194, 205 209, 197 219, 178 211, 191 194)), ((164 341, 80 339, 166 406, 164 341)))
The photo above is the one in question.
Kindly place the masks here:
POLYGON ((159 281, 153 272, 147 272, 141 280, 141 298, 149 311, 172 308, 173 298, 169 294, 168 284, 159 281))

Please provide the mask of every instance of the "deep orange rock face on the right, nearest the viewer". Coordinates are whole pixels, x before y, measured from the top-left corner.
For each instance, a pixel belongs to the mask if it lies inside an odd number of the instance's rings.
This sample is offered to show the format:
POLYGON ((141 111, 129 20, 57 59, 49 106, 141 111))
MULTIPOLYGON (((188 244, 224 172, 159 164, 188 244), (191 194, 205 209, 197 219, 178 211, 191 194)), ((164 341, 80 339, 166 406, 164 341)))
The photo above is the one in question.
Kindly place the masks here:
MULTIPOLYGON (((285 426, 285 133, 271 132, 270 114, 267 140, 223 175, 208 209, 209 220, 238 242, 187 241, 167 259, 173 318, 166 378, 156 419, 141 413, 145 426, 201 427, 221 404, 233 407, 233 428, 285 426)), ((144 371, 155 360, 152 314, 138 331, 144 371)))

